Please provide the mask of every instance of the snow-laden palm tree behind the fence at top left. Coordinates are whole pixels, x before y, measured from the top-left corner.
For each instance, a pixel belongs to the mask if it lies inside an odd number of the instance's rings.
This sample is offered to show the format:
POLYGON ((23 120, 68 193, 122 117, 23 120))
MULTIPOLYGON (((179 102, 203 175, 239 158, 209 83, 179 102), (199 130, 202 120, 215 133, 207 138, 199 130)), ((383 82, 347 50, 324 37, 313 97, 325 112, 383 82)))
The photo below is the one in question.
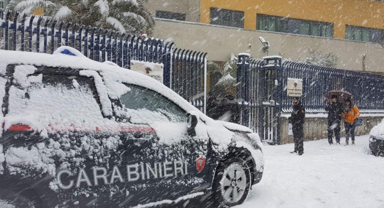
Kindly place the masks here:
POLYGON ((10 0, 7 9, 31 14, 44 9, 45 16, 77 24, 115 29, 122 33, 151 34, 154 20, 144 7, 146 0, 10 0))

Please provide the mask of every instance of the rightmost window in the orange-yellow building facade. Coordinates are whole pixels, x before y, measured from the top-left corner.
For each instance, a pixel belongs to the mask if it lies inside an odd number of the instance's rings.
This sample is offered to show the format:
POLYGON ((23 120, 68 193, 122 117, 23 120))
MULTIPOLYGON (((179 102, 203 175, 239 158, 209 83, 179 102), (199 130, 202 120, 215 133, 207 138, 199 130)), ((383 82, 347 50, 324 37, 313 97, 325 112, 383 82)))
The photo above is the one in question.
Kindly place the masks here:
POLYGON ((384 42, 384 30, 346 25, 345 39, 365 42, 384 42))

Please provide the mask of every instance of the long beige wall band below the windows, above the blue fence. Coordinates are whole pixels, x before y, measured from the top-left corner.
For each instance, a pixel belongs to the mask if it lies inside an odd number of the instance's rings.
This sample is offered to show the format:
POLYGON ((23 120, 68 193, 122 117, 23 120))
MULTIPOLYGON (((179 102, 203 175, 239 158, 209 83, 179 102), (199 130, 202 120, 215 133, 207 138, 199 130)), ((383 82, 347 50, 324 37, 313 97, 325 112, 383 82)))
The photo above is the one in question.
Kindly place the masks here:
POLYGON ((384 72, 384 47, 377 43, 322 38, 277 32, 253 31, 209 24, 156 19, 154 37, 173 40, 177 47, 208 52, 207 59, 227 61, 231 53, 250 53, 254 58, 266 56, 258 36, 270 43, 268 55, 282 55, 297 60, 309 55, 310 49, 335 53, 337 68, 384 72), (248 47, 250 44, 250 48, 248 47))

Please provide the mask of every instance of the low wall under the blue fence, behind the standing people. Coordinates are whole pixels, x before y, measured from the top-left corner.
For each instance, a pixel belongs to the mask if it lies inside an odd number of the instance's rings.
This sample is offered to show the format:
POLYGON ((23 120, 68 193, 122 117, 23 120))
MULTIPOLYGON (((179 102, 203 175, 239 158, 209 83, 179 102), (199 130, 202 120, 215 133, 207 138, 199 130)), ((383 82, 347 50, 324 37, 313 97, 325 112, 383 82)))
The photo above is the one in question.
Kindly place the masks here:
MULTIPOLYGON (((384 117, 361 117, 363 125, 356 127, 355 135, 367 135, 372 127, 376 126, 384 117)), ((312 141, 328 138, 327 136, 327 118, 305 118, 304 123, 304 141, 312 141)), ((281 144, 293 143, 293 136, 288 136, 288 119, 281 117, 281 144)), ((344 122, 341 122, 341 137, 345 136, 344 122)), ((333 136, 333 142, 334 142, 333 136)), ((345 140, 341 139, 341 143, 345 140)), ((356 141, 358 142, 358 141, 356 141)))

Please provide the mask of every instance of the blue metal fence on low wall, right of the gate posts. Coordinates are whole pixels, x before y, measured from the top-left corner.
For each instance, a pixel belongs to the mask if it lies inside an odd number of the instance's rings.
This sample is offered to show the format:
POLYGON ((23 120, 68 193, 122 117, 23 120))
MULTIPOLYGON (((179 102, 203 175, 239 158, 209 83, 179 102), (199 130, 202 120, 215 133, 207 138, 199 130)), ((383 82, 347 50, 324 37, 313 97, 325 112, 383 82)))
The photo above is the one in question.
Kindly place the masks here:
MULTIPOLYGON (((303 80, 302 103, 307 113, 325 113, 324 94, 344 90, 353 95, 354 104, 362 113, 384 113, 384 76, 367 72, 328 68, 285 61, 282 66, 282 86, 287 78, 303 80)), ((291 112, 291 98, 282 92, 282 111, 291 112)))

